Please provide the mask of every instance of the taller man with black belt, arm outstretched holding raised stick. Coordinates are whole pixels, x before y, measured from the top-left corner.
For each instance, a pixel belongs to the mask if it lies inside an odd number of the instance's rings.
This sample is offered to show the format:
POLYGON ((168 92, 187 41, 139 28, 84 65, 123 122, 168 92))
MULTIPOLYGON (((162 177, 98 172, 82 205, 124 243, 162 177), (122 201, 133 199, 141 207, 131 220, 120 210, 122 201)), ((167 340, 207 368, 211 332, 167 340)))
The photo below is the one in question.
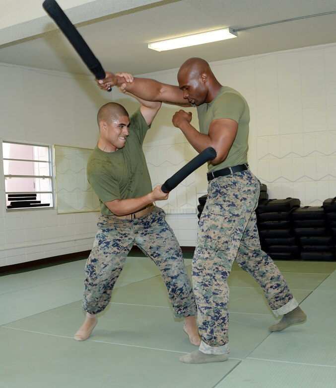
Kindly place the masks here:
POLYGON ((179 110, 174 126, 181 129, 197 152, 213 147, 208 162, 208 196, 202 211, 193 259, 193 286, 202 342, 199 350, 180 357, 189 364, 228 359, 228 300, 226 283, 234 261, 263 288, 269 306, 281 320, 270 331, 281 331, 306 320, 271 258, 262 251, 256 226, 260 184, 247 163, 250 111, 245 98, 222 86, 208 63, 190 58, 181 66, 179 86, 106 73, 101 89, 117 86, 137 97, 197 107, 198 131, 192 113, 179 110))

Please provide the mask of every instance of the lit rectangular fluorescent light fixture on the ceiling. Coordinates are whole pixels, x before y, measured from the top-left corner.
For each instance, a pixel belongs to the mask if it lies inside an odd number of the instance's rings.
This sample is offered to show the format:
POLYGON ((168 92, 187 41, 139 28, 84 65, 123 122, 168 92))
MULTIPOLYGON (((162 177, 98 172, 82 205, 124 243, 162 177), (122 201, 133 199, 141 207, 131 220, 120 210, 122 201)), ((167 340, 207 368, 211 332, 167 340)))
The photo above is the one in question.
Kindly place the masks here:
POLYGON ((237 36, 238 33, 234 32, 231 28, 222 28, 220 30, 207 31, 200 34, 181 36, 179 38, 148 43, 148 48, 156 51, 174 50, 181 47, 218 42, 219 40, 236 38, 237 36))

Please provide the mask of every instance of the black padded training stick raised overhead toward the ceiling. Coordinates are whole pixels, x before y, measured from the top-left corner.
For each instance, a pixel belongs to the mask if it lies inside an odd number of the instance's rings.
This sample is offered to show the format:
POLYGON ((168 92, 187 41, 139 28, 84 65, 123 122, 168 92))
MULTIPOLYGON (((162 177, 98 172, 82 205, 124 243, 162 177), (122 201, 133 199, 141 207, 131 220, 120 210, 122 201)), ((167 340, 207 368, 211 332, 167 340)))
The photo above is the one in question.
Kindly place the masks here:
MULTIPOLYGON (((105 78, 105 70, 103 69, 102 65, 94 56, 90 47, 87 45, 80 33, 76 30, 75 26, 71 23, 57 1, 45 0, 43 1, 42 6, 49 14, 49 16, 52 17, 55 23, 60 27, 90 72, 95 75, 97 80, 102 80, 105 78)), ((111 92, 111 90, 112 88, 109 88, 108 91, 111 92)))

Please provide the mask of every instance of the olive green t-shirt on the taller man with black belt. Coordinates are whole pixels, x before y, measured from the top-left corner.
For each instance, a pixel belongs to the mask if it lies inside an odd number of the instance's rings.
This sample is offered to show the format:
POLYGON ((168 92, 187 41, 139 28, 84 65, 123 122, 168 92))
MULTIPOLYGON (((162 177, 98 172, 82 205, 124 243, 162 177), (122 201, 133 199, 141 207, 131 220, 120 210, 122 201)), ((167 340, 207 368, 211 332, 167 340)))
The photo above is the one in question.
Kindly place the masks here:
POLYGON ((222 86, 218 95, 210 103, 197 106, 197 113, 200 132, 205 134, 208 133, 212 120, 230 118, 238 123, 237 135, 228 156, 216 165, 208 162, 209 171, 247 163, 250 109, 245 98, 234 89, 222 86))

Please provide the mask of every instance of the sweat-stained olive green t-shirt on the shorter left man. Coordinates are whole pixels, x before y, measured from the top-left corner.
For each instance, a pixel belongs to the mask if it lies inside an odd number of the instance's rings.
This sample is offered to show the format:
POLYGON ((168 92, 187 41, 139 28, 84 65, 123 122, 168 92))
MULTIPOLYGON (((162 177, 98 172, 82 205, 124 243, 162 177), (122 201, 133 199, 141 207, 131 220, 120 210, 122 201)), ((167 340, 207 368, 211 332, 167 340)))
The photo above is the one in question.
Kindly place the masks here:
POLYGON ((99 197, 104 215, 113 213, 105 202, 115 199, 138 198, 152 191, 142 143, 147 125, 140 109, 130 118, 130 134, 125 146, 115 152, 105 152, 95 147, 87 162, 87 179, 99 197))

